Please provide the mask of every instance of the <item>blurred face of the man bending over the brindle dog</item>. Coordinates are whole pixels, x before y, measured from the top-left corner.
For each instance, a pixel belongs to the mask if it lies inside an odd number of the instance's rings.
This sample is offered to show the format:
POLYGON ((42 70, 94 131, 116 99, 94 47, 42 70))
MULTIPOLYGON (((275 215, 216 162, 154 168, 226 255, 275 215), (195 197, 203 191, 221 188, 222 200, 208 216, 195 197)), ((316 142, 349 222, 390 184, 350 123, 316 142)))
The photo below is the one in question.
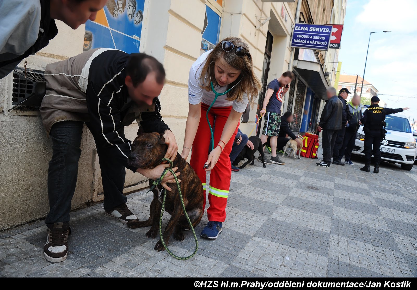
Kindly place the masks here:
POLYGON ((155 72, 150 72, 146 79, 137 85, 133 86, 132 78, 126 76, 126 87, 128 88, 129 97, 135 101, 138 105, 152 105, 153 99, 161 95, 163 83, 158 84, 156 82, 155 72))

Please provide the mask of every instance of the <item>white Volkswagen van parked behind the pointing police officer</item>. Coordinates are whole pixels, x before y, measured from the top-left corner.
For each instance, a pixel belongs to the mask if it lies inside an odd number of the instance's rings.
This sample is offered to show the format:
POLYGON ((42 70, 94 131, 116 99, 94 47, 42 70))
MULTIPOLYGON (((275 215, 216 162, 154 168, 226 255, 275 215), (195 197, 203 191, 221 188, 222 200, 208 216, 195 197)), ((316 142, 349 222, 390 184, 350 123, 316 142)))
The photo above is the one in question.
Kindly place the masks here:
MULTIPOLYGON (((402 113, 396 113, 385 116, 385 122, 387 123, 387 127, 385 127, 387 134, 382 140, 380 148, 382 160, 389 163, 399 163, 402 169, 411 170, 416 159, 417 148, 409 120, 402 113)), ((359 126, 356 133, 352 154, 365 155, 363 128, 363 125, 359 126)))

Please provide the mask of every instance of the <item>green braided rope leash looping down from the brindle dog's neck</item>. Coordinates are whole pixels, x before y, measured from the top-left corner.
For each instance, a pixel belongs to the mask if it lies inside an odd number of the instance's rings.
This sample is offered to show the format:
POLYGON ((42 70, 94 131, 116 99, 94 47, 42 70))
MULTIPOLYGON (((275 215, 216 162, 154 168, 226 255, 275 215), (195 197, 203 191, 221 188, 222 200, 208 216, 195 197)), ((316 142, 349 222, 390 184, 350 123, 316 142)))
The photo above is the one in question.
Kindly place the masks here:
MULTIPOLYGON (((174 176, 175 181, 176 181, 176 183, 177 183, 178 193, 179 193, 179 195, 180 195, 181 205, 182 205, 182 208, 183 208, 184 215, 185 215, 185 216, 186 216, 186 218, 187 218, 188 225, 190 226, 191 230, 193 231, 194 240, 196 241, 196 249, 194 250, 194 253, 192 253, 191 255, 189 255, 189 256, 187 256, 187 257, 178 257, 177 255, 173 254, 173 253, 172 253, 172 252, 168 249, 168 246, 166 245, 165 241, 163 240, 163 237, 162 237, 162 215, 163 215, 163 213, 164 213, 164 211, 165 211, 165 199, 166 199, 166 189, 165 189, 165 188, 164 188, 164 189, 163 189, 163 191, 162 191, 162 194, 163 194, 163 200, 162 200, 161 216, 159 217, 159 237, 161 238, 162 245, 165 247, 165 249, 166 249, 166 251, 169 253, 169 255, 173 256, 174 258, 176 258, 176 259, 178 259, 178 260, 188 260, 189 258, 191 258, 191 257, 193 257, 194 255, 196 255, 197 250, 198 250, 198 240, 197 240, 196 232, 194 231, 193 224, 191 223, 191 220, 190 220, 190 218, 188 217, 187 211, 186 211, 186 209, 185 209, 184 200, 183 200, 183 197, 182 197, 181 188, 180 188, 180 185, 179 185, 179 182, 178 182, 178 178, 177 178, 177 176, 175 175, 174 171, 172 170, 173 163, 172 163, 172 161, 171 161, 171 160, 169 160, 168 158, 162 158, 162 161, 166 161, 166 162, 168 162, 168 163, 169 163, 169 165, 170 165, 170 167, 169 167, 169 168, 165 168, 165 170, 163 170, 163 173, 162 173, 162 175, 161 175, 161 177, 160 177, 160 178, 158 178, 157 180, 154 180, 154 181, 152 181, 152 180, 151 180, 151 183, 153 184, 153 186, 151 187, 151 189, 150 189, 149 191, 153 190, 153 188, 155 188, 155 187, 156 187, 156 185, 160 185, 160 184, 162 183, 162 180, 163 180, 163 178, 165 177, 166 173, 168 173, 168 171, 172 173, 172 175, 174 176)), ((148 192, 149 192, 149 191, 148 191, 148 192)))

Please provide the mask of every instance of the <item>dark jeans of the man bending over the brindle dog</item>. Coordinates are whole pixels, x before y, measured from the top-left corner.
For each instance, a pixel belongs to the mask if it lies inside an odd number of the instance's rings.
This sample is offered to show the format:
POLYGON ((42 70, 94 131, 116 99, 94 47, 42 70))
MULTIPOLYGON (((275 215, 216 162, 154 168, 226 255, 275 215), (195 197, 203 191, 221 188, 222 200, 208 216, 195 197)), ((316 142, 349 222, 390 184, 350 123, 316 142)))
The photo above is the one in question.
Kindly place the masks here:
MULTIPOLYGON (((83 125, 84 122, 80 121, 62 121, 55 123, 50 131, 53 153, 48 169, 49 213, 46 224, 70 221, 83 125)), ((106 148, 98 142, 95 144, 103 179, 104 210, 110 211, 127 201, 123 195, 126 170, 123 165, 113 161, 106 148)))

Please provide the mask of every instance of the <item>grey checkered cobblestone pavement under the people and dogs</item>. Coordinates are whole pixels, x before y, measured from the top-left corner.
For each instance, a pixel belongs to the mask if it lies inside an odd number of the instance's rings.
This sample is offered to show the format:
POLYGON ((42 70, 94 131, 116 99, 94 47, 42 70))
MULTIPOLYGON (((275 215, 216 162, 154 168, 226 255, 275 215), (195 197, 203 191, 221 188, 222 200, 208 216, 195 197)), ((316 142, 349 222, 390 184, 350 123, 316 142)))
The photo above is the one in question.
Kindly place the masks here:
MULTIPOLYGON (((360 171, 358 159, 329 169, 317 160, 284 160, 284 166, 255 162, 232 173, 223 232, 216 240, 199 238, 190 260, 154 251, 148 228, 128 229, 99 204, 71 213, 70 250, 61 263, 43 257, 44 220, 0 232, 0 276, 417 276, 415 168, 383 163, 374 174, 360 171)), ((146 191, 128 196, 141 220, 152 200, 146 191)), ((206 223, 205 215, 198 235, 206 223)), ((192 233, 183 242, 171 239, 170 249, 189 255, 192 233)))

